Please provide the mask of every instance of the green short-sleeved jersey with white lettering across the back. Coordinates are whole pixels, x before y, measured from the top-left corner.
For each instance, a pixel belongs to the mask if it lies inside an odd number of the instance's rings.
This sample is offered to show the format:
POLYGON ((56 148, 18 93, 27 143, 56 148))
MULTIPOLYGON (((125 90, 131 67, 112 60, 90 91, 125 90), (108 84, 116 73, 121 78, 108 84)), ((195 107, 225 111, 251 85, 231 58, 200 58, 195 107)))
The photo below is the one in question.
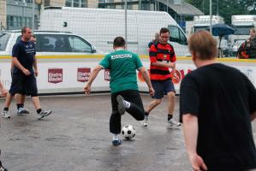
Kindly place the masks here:
POLYGON ((142 67, 139 56, 127 51, 116 50, 99 62, 104 69, 110 69, 111 93, 138 90, 136 69, 142 67))

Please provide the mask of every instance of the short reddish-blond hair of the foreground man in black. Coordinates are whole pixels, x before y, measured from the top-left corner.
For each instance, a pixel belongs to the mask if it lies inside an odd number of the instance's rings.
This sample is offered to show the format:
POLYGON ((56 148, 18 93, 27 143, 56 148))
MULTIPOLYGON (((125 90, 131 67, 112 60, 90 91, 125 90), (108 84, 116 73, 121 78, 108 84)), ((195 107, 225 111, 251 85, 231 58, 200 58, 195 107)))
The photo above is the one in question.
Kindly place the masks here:
POLYGON ((209 60, 217 56, 217 42, 207 31, 193 33, 188 40, 188 47, 201 60, 209 60))

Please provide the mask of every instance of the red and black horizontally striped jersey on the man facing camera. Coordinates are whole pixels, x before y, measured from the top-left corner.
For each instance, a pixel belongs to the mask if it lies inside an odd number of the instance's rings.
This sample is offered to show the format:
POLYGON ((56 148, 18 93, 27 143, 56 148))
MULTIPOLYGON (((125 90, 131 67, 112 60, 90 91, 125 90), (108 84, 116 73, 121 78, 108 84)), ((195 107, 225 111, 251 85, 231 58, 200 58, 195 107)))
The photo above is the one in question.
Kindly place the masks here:
POLYGON ((170 79, 170 71, 167 67, 153 66, 152 62, 176 62, 176 54, 171 44, 152 44, 149 50, 150 56, 150 78, 151 80, 170 79))

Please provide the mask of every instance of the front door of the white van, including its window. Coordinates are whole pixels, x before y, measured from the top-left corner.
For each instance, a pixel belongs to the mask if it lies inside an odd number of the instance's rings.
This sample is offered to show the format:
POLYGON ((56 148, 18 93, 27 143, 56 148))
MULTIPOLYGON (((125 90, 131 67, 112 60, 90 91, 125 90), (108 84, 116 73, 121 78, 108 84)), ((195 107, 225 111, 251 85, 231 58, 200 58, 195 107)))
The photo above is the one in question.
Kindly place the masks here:
POLYGON ((170 44, 174 47, 176 54, 180 56, 189 56, 188 39, 180 27, 169 26, 170 44))

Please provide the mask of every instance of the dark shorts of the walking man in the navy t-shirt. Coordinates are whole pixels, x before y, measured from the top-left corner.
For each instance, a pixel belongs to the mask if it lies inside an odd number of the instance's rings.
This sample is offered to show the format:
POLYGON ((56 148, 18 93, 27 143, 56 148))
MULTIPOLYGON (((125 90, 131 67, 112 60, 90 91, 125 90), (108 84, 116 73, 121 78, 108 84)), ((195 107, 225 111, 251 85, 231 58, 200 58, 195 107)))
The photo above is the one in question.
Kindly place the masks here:
POLYGON ((27 94, 32 97, 38 96, 37 80, 34 74, 12 74, 12 83, 10 85, 9 93, 14 96, 18 94, 27 94))

